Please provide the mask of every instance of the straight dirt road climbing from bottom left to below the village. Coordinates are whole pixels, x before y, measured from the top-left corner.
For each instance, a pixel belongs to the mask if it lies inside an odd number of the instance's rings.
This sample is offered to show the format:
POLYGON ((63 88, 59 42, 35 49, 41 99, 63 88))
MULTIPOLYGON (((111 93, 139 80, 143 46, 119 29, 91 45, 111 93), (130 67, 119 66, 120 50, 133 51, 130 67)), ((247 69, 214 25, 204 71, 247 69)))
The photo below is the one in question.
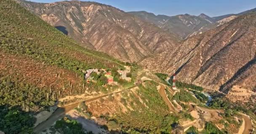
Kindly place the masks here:
MULTIPOLYGON (((132 88, 135 88, 135 87, 136 86, 133 86, 133 87, 125 89, 125 90, 129 90, 129 89, 132 89, 132 88)), ((120 91, 117 91, 117 92, 108 93, 108 94, 105 94, 105 95, 101 95, 101 96, 98 96, 98 97, 95 97, 95 98, 90 98, 90 99, 83 100, 83 101, 85 101, 85 102, 95 101, 95 100, 98 100, 99 98, 107 97, 110 94, 121 93, 125 90, 120 90, 120 91)), ((41 131, 45 130, 46 128, 50 127, 55 121, 58 121, 59 119, 63 118, 67 112, 76 108, 79 105, 79 103, 81 103, 83 101, 78 101, 78 102, 69 104, 67 106, 57 108, 56 111, 46 121, 43 121, 42 123, 40 123, 39 125, 37 125, 34 128, 34 132, 36 134, 38 134, 41 131)))

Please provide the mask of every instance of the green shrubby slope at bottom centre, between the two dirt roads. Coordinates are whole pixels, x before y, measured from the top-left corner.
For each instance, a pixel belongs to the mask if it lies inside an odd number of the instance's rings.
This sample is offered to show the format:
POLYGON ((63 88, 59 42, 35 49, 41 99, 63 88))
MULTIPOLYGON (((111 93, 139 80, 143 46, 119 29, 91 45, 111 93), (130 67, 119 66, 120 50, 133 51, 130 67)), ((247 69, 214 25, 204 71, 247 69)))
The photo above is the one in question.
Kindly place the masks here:
POLYGON ((119 113, 115 117, 122 130, 128 134, 155 133, 169 134, 171 124, 178 121, 178 114, 170 114, 165 102, 157 93, 155 82, 145 82, 146 87, 139 86, 138 94, 145 103, 138 98, 132 98, 135 111, 119 113))

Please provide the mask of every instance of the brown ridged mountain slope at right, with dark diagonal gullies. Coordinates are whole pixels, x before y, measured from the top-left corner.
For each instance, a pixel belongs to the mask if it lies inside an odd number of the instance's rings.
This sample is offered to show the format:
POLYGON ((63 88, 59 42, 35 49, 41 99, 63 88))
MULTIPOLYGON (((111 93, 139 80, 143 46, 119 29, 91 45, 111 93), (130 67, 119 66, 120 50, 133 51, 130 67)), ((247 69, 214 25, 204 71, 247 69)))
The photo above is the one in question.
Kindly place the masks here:
POLYGON ((239 16, 193 36, 173 51, 144 59, 141 65, 204 88, 228 93, 233 85, 256 86, 256 13, 239 16))

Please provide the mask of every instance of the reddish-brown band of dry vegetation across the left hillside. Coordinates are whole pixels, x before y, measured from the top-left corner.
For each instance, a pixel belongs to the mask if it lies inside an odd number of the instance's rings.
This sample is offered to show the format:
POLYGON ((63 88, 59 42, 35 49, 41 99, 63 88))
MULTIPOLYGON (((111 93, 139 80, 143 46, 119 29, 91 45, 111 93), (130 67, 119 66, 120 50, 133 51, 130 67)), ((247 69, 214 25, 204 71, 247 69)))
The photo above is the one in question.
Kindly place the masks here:
POLYGON ((28 82, 40 88, 51 86, 53 89, 62 89, 69 82, 74 88, 82 88, 79 86, 82 80, 80 77, 76 77, 75 72, 4 52, 0 52, 0 59, 0 74, 2 76, 9 75, 20 82, 28 82))

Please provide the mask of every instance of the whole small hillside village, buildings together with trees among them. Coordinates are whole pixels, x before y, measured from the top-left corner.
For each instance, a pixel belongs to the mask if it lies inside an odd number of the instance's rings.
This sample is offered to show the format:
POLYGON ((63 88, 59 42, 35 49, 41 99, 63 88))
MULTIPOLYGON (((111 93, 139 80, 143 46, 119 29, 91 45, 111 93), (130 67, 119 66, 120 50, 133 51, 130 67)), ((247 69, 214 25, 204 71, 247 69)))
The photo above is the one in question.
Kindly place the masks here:
POLYGON ((110 70, 110 69, 88 69, 86 71, 82 70, 85 74, 85 80, 87 83, 96 82, 95 77, 103 76, 102 79, 106 80, 107 85, 117 85, 119 79, 131 82, 131 67, 124 66, 125 69, 121 70, 110 70))

